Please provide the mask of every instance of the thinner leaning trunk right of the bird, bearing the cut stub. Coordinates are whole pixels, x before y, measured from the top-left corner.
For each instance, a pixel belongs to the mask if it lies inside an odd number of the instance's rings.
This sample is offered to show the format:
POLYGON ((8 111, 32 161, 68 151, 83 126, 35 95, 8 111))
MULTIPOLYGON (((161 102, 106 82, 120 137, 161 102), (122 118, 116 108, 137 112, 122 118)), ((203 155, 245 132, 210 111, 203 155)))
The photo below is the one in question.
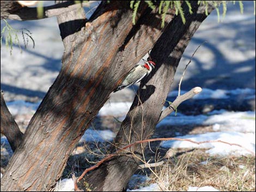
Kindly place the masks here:
MULTIPOLYGON (((197 5, 197 1, 191 1, 191 5, 192 15, 189 14, 187 7, 184 7, 186 23, 183 24, 181 18, 176 17, 168 24, 152 49, 151 58, 156 63, 156 72, 142 81, 130 111, 115 138, 117 149, 138 140, 149 139, 154 133, 161 115, 162 104, 166 100, 182 53, 207 17, 204 5, 197 5)), ((208 13, 210 14, 212 10, 214 6, 209 3, 208 13)), ((141 154, 144 147, 145 145, 132 146, 128 152, 126 150, 120 153, 120 156, 107 160, 105 164, 101 164, 86 176, 80 187, 83 188, 82 185, 86 182, 93 191, 123 190, 138 168, 138 158, 134 156, 143 159, 141 154)))

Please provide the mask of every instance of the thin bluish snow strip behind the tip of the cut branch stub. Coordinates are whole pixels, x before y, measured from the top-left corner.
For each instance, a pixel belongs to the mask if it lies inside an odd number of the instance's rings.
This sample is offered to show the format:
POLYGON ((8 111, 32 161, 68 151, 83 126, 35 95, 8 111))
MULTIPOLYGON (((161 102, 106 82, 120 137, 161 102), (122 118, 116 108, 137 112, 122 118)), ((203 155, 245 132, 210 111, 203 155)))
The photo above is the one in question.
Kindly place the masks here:
MULTIPOLYGON (((185 94, 184 90, 180 91, 180 94, 185 94)), ((232 95, 246 95, 247 98, 251 98, 252 96, 255 96, 255 89, 234 89, 234 90, 224 90, 224 89, 216 89, 211 90, 207 88, 203 88, 203 90, 200 92, 200 94, 195 95, 192 99, 194 100, 205 100, 209 98, 214 99, 223 99, 223 98, 229 98, 232 95)), ((178 96, 178 91, 172 91, 168 94, 168 97, 176 97, 178 96)))

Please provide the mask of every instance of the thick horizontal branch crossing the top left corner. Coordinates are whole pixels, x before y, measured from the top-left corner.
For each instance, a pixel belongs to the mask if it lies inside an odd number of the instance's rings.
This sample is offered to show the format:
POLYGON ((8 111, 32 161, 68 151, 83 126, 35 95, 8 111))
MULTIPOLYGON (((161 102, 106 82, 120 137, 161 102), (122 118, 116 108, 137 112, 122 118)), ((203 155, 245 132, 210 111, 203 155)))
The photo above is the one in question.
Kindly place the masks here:
POLYGON ((19 21, 39 20, 68 13, 69 11, 76 10, 81 7, 88 7, 91 3, 92 2, 75 4, 75 1, 67 1, 64 3, 50 5, 43 7, 43 15, 38 18, 38 11, 36 8, 22 7, 16 1, 1 1, 1 19, 7 18, 19 21))

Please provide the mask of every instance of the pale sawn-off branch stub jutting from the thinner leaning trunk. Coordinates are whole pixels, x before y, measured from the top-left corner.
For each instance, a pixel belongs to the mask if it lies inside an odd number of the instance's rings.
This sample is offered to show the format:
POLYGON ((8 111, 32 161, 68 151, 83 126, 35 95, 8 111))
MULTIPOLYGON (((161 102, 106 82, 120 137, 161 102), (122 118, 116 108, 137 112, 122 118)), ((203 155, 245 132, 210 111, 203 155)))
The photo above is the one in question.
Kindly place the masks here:
POLYGON ((162 111, 160 118, 159 118, 159 122, 162 121, 170 113, 174 112, 178 108, 180 103, 192 98, 194 95, 199 94, 199 92, 201 92, 201 91, 202 91, 202 88, 197 86, 197 87, 191 89, 190 91, 186 92, 185 94, 178 96, 174 100, 174 102, 172 102, 172 104, 169 105, 169 107, 167 107, 166 109, 164 109, 162 111))

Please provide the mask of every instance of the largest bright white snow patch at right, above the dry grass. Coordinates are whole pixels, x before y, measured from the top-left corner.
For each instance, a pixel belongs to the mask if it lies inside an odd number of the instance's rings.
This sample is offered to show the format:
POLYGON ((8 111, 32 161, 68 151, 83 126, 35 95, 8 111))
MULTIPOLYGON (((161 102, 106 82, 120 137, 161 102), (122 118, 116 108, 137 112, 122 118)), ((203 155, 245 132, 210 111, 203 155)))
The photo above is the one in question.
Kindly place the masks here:
MULTIPOLYGON (((213 133, 198 135, 184 135, 182 139, 193 141, 222 140, 228 143, 235 143, 245 147, 247 150, 255 152, 255 112, 225 112, 225 110, 214 111, 208 115, 187 116, 178 114, 168 116, 161 121, 157 127, 164 125, 213 125, 213 133), (208 116, 209 115, 209 116, 208 116)), ((249 154, 244 148, 239 146, 229 146, 223 143, 193 144, 188 141, 164 141, 162 147, 165 148, 210 148, 207 152, 214 155, 227 154, 249 154)))

